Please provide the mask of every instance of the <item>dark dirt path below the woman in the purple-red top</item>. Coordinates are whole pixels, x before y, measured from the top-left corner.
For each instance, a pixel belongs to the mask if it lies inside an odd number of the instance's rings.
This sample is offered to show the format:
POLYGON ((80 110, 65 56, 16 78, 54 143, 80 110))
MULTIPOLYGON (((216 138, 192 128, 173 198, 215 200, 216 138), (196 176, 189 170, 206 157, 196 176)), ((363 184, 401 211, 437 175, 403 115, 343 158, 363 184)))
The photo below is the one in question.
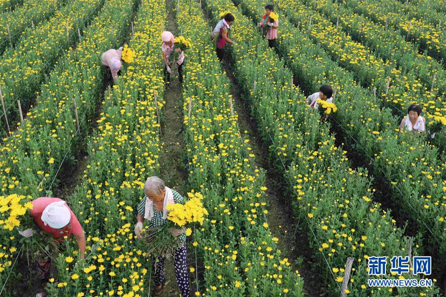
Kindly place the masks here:
POLYGON ((230 61, 231 57, 226 54, 222 67, 231 81, 230 93, 234 99, 234 110, 238 114, 240 134, 250 139, 250 146, 256 156, 255 166, 262 168, 265 173, 265 186, 268 188, 265 194, 269 202, 267 221, 270 230, 279 238, 278 246, 282 256, 288 257, 293 271, 298 270, 303 278, 307 295, 325 296, 325 290, 320 285, 321 272, 315 268, 317 265, 313 264, 318 260, 313 256, 314 251, 308 244, 307 227, 304 222, 296 222, 290 197, 281 195, 287 192, 287 185, 265 154, 269 148, 260 137, 230 61))

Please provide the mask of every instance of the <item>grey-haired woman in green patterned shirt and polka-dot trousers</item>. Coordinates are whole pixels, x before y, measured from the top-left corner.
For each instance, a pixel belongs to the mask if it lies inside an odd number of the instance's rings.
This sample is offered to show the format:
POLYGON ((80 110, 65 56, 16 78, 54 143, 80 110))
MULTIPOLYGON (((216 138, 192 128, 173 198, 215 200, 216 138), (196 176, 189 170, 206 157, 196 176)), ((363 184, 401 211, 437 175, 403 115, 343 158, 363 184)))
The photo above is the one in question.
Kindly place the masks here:
MULTIPOLYGON (((167 222, 167 209, 169 204, 181 203, 184 204, 184 198, 175 190, 172 190, 164 185, 164 181, 158 177, 150 177, 144 183, 144 198, 139 203, 136 217, 135 235, 137 238, 142 238, 142 223, 147 220, 149 228, 158 228, 167 222)), ((175 251, 175 275, 177 277, 177 284, 180 287, 183 297, 189 296, 189 274, 187 268, 187 249, 186 249, 186 234, 183 229, 170 229, 170 233, 179 237, 179 241, 183 244, 175 251)), ((164 260, 161 257, 154 263, 155 270, 155 296, 159 296, 164 291, 164 260), (155 267, 156 265, 156 267, 155 267)))

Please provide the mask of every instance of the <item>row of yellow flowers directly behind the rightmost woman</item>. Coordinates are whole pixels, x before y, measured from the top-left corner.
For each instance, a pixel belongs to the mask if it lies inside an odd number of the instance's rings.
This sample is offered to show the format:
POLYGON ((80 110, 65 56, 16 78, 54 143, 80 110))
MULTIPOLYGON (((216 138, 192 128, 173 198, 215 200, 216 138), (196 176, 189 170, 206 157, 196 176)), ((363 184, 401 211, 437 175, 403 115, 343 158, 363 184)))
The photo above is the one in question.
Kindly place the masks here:
MULTIPOLYGON (((435 99, 436 92, 443 82, 437 84, 437 87, 434 86, 436 89, 431 92, 431 84, 426 81, 432 81, 433 77, 422 79, 417 70, 399 67, 394 59, 382 59, 363 44, 353 41, 352 37, 340 28, 336 28, 326 16, 321 16, 298 2, 284 2, 280 8, 293 23, 299 22, 301 32, 308 32, 315 43, 324 46, 333 59, 339 60, 346 69, 354 71, 360 83, 370 86, 371 89, 376 86, 377 93, 381 94, 384 100, 395 103, 404 114, 407 107, 416 102, 423 107, 423 115, 429 122, 435 117, 436 121, 445 117, 446 106, 441 98, 435 99), (386 96, 387 77, 389 87, 386 96)), ((397 124, 395 122, 395 125, 397 124)))

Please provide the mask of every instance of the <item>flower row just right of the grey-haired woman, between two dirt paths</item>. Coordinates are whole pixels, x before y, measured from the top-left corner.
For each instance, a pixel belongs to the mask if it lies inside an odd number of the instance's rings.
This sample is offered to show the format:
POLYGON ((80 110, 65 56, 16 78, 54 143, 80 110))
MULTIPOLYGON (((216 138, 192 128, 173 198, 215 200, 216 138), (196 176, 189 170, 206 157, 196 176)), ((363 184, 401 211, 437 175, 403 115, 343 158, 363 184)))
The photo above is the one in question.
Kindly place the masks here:
POLYGON ((180 0, 179 7, 179 27, 193 40, 183 90, 188 181, 209 212, 193 235, 197 273, 203 276, 192 286, 195 295, 303 296, 299 272, 269 230, 265 176, 255 167, 250 140, 240 134, 237 113, 231 113, 230 82, 200 6, 180 0))

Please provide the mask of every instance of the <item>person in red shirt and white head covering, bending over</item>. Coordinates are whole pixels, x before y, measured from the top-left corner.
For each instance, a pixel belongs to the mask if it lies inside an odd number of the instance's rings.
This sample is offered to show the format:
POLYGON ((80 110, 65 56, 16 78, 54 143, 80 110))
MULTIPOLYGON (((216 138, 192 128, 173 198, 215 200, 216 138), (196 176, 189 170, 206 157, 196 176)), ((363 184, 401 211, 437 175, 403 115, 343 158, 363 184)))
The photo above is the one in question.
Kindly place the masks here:
MULTIPOLYGON (((68 207, 66 202, 59 198, 40 197, 31 201, 33 209, 30 216, 33 218, 40 230, 49 233, 57 241, 62 242, 64 236, 69 237, 71 234, 77 239, 80 259, 85 258, 85 234, 80 226, 74 213, 68 207)), ((29 238, 33 236, 33 229, 29 228, 19 231, 23 237, 29 238)), ((37 270, 41 274, 43 280, 48 280, 50 276, 51 259, 47 261, 38 261, 37 270)))

